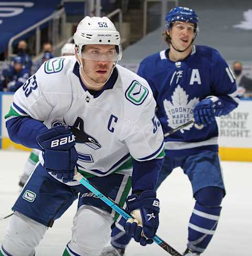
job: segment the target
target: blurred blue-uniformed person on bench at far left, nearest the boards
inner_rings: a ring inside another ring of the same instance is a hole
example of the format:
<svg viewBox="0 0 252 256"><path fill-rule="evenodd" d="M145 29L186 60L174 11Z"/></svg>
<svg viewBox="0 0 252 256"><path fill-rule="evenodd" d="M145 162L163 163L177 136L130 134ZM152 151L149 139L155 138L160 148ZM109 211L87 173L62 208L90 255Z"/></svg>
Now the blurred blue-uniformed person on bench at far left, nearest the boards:
<svg viewBox="0 0 252 256"><path fill-rule="evenodd" d="M10 65L3 70L2 87L7 87L7 91L15 92L29 78L30 72L25 66L24 59L20 56L13 58L13 66Z"/></svg>

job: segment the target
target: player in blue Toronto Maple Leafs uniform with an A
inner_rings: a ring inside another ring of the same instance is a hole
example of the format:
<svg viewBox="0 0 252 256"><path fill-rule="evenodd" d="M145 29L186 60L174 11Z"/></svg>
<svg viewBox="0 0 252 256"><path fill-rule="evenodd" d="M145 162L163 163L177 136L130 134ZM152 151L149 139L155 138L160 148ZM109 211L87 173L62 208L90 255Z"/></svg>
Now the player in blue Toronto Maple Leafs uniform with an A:
<svg viewBox="0 0 252 256"><path fill-rule="evenodd" d="M196 202L184 255L196 256L214 235L225 195L215 117L234 110L239 100L235 78L218 51L193 44L199 31L195 11L175 7L165 23L163 35L169 48L146 57L138 74L152 88L164 133L195 119L164 138L166 155L157 188L178 166L188 176ZM112 230L112 247L104 249L102 256L124 255L130 237L123 234L122 229Z"/></svg>

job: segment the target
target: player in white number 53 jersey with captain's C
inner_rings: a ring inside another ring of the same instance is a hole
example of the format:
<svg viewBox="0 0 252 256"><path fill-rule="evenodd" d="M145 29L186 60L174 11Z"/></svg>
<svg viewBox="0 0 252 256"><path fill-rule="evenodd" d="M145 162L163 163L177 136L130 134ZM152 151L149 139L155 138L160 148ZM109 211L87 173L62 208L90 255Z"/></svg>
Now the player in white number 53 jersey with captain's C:
<svg viewBox="0 0 252 256"><path fill-rule="evenodd" d="M1 256L33 256L78 194L64 256L100 255L120 217L74 179L75 169L121 206L127 203L137 216L126 224L135 241L152 243L158 229L153 202L159 201L154 189L164 142L150 86L117 64L120 35L108 18L83 18L74 41L76 56L44 63L15 93L5 116L10 139L41 153L13 206ZM146 214L155 218L148 221Z"/></svg>

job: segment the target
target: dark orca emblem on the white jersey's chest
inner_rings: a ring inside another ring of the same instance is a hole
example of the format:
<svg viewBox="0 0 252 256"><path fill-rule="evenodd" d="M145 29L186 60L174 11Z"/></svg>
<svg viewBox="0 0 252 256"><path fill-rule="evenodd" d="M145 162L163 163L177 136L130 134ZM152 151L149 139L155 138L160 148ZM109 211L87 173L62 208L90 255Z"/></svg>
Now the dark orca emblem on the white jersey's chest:
<svg viewBox="0 0 252 256"><path fill-rule="evenodd" d="M99 142L84 131L84 122L80 117L77 117L74 125L70 126L70 130L75 135L76 143L84 143L94 150L101 148Z"/></svg>

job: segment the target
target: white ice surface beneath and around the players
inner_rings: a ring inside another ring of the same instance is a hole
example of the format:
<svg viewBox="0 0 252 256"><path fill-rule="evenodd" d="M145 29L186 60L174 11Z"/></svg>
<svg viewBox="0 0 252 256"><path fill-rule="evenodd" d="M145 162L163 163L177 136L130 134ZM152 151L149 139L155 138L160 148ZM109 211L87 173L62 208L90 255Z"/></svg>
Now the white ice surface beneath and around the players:
<svg viewBox="0 0 252 256"><path fill-rule="evenodd" d="M18 180L29 153L0 150L0 218L11 213L10 208L20 192ZM227 195L217 231L204 256L252 255L252 163L222 162ZM161 201L160 226L157 234L177 251L186 247L187 223L193 209L191 184L181 169L175 169L158 191ZM72 218L77 203L54 223L36 249L36 256L60 256L71 239ZM0 221L2 242L8 219ZM85 228L85 227L83 227ZM87 231L87 235L88 235ZM126 256L170 255L157 244L141 247L131 241ZM15 255L14 255L15 256Z"/></svg>

